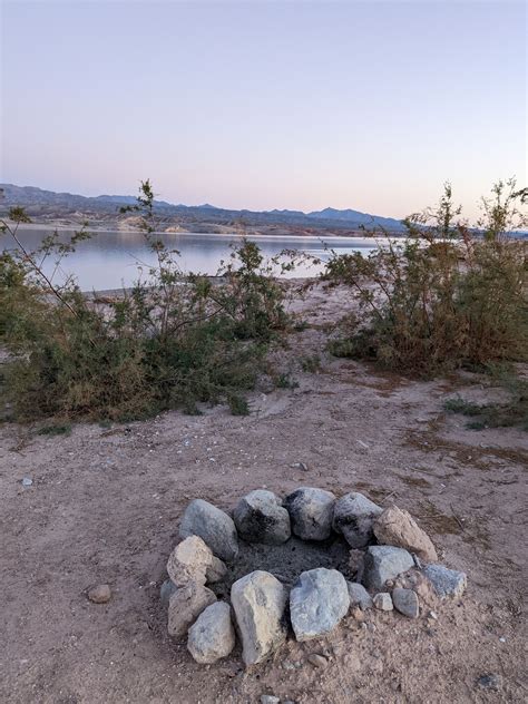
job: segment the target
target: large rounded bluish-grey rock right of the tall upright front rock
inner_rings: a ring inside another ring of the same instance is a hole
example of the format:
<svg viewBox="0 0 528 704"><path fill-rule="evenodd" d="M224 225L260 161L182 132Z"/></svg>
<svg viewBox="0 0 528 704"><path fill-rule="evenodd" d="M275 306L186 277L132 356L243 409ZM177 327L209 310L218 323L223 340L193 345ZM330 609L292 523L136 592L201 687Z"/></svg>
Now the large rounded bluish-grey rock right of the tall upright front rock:
<svg viewBox="0 0 528 704"><path fill-rule="evenodd" d="M290 618L300 642L333 630L350 606L349 588L336 569L310 569L303 573L290 593Z"/></svg>

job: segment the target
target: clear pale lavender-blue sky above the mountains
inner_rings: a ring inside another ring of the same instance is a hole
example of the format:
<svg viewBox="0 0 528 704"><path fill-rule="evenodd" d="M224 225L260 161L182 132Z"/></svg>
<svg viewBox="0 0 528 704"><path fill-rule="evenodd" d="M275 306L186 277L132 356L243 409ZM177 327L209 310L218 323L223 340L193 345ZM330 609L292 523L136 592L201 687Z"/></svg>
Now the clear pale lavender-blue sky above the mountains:
<svg viewBox="0 0 528 704"><path fill-rule="evenodd" d="M0 3L3 183L393 217L526 185L524 1Z"/></svg>

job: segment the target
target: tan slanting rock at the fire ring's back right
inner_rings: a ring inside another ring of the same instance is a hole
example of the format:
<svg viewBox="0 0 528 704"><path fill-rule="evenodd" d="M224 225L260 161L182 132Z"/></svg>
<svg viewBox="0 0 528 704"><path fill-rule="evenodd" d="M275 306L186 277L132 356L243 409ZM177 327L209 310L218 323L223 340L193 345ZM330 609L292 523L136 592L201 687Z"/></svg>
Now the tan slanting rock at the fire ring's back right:
<svg viewBox="0 0 528 704"><path fill-rule="evenodd" d="M427 563L438 560L431 539L410 514L391 506L374 521L374 535L381 545L392 545L415 553Z"/></svg>

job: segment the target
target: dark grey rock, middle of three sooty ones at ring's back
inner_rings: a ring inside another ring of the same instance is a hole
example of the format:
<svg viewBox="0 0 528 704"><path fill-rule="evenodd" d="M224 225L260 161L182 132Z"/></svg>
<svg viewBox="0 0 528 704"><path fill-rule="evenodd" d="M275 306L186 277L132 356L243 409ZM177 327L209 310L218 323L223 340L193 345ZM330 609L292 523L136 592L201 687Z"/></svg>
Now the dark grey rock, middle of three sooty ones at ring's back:
<svg viewBox="0 0 528 704"><path fill-rule="evenodd" d="M332 531L335 496L324 489L301 487L285 500L293 532L303 540L325 540Z"/></svg>

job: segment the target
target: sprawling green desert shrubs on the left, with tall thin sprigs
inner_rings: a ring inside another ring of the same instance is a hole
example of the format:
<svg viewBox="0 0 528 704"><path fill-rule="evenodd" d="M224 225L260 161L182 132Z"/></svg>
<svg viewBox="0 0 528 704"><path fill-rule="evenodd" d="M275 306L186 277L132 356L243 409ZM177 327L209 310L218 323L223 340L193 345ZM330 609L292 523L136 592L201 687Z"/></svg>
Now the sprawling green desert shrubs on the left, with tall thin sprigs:
<svg viewBox="0 0 528 704"><path fill-rule="evenodd" d="M246 241L219 285L184 274L178 253L155 234L153 203L145 182L138 205L126 209L139 213L156 265L104 305L72 278L58 285L42 268L47 257L67 256L86 229L67 244L55 233L29 253L17 236L23 211L11 212L14 225L3 223L18 245L0 260L0 342L11 353L3 375L17 419L126 420L218 401L248 412L243 393L290 322L283 289Z"/></svg>

